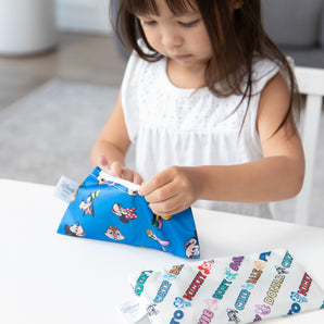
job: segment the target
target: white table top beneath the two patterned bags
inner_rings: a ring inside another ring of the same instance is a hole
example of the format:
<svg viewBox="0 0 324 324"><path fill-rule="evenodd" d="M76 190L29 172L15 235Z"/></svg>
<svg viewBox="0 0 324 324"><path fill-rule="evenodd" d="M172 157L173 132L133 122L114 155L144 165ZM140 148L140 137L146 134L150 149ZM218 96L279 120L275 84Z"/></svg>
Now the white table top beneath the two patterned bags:
<svg viewBox="0 0 324 324"><path fill-rule="evenodd" d="M66 203L53 187L0 179L0 323L123 323L128 274L186 260L153 249L57 234ZM287 248L324 287L324 228L194 210L201 258ZM324 323L313 311L266 323Z"/></svg>

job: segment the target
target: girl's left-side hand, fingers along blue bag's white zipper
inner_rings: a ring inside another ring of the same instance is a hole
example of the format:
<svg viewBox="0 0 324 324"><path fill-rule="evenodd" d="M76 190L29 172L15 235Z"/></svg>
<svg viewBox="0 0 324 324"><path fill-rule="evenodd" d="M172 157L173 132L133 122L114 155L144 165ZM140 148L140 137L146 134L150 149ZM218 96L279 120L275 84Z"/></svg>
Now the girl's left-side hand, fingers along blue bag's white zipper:
<svg viewBox="0 0 324 324"><path fill-rule="evenodd" d="M98 165L105 172L110 173L112 176L123 178L125 180L135 183L137 185L141 185L142 178L141 176L130 169L122 165L121 162L112 162L109 166L108 160L105 157L100 157L98 161Z"/></svg>

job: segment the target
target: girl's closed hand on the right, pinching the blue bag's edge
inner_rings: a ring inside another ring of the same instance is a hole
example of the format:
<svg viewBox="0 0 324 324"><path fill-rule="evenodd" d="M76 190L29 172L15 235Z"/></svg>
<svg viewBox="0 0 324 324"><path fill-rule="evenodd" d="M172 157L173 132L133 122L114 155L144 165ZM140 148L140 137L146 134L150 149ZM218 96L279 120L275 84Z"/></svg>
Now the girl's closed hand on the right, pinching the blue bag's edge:
<svg viewBox="0 0 324 324"><path fill-rule="evenodd" d="M171 166L139 188L157 215L169 216L190 207L200 196L202 185L195 167Z"/></svg>

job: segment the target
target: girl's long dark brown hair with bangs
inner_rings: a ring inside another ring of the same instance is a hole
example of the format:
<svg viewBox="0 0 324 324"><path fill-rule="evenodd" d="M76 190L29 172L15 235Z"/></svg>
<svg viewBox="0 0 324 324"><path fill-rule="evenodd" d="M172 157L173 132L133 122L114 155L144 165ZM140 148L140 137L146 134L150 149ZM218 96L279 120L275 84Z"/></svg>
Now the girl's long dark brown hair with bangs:
<svg viewBox="0 0 324 324"><path fill-rule="evenodd" d="M300 111L300 99L295 74L285 54L270 39L262 26L261 0L165 0L174 14L188 8L200 11L210 37L213 55L205 68L208 88L216 96L241 95L240 103L252 91L252 68L256 57L274 60L288 78L290 87L289 107L276 132L294 117L292 108ZM233 11L234 3L239 8ZM159 15L155 0L121 0L115 32L129 50L136 50L144 60L155 62L163 57L148 43L136 15ZM150 53L144 52L137 39L142 38ZM226 41L225 41L226 40ZM215 87L219 80L222 87ZM240 103L236 109L239 108ZM247 112L246 112L247 113Z"/></svg>

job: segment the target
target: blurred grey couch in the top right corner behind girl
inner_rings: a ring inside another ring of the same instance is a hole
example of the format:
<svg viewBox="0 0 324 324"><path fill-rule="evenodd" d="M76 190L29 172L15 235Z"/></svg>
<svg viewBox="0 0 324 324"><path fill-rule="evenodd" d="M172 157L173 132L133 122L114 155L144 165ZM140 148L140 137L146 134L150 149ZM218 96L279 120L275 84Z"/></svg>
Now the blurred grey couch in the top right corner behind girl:
<svg viewBox="0 0 324 324"><path fill-rule="evenodd" d="M264 28L299 66L324 68L324 0L261 0Z"/></svg>

